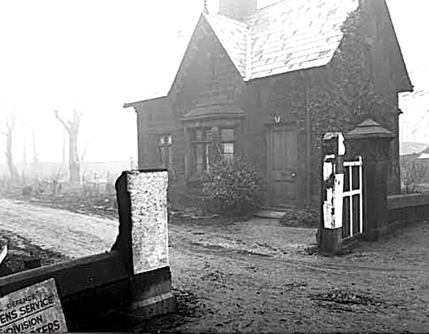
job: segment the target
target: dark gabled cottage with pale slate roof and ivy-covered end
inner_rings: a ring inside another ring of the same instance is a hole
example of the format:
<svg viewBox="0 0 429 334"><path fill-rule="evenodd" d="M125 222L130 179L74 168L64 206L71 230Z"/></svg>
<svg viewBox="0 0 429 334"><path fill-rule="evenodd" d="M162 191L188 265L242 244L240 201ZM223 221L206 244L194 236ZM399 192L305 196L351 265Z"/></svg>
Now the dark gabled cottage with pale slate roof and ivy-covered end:
<svg viewBox="0 0 429 334"><path fill-rule="evenodd" d="M124 105L138 115L139 167L168 167L173 199L214 151L240 154L262 173L266 206L318 205L323 134L370 117L396 135L398 192L398 93L413 87L385 0L219 5L201 13L165 90Z"/></svg>

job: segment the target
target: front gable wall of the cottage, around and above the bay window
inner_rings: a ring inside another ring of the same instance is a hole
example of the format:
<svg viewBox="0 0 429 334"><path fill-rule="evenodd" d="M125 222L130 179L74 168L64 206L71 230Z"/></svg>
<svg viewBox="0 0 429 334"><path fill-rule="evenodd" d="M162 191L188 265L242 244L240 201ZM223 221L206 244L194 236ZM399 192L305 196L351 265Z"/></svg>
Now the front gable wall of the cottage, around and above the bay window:
<svg viewBox="0 0 429 334"><path fill-rule="evenodd" d="M184 198L186 194L187 141L185 124L180 117L198 106L219 103L242 106L243 92L240 74L205 18L201 17L168 96L135 107L139 168L160 167L156 158L157 138L173 136L170 199L174 204L182 205L175 199ZM238 130L238 134L243 131Z"/></svg>

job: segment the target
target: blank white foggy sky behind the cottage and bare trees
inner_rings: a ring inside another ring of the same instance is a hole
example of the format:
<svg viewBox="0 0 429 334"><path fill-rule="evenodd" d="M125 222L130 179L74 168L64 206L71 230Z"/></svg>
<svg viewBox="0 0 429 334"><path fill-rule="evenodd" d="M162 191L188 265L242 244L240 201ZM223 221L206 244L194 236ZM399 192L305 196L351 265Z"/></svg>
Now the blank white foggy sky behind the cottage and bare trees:
<svg viewBox="0 0 429 334"><path fill-rule="evenodd" d="M416 89L428 89L424 43L429 5L424 0L387 1L413 83ZM260 0L258 5L273 2ZM178 31L186 40L203 3L1 1L0 119L7 109L21 116L15 160L22 160L24 140L27 159L32 159L26 121L37 130L39 158L60 161L63 131L53 111L67 118L74 108L83 113L80 150L91 140L86 161L137 158L136 115L132 108L123 109L123 103L139 100L159 85L175 50L183 49L178 48ZM208 3L217 12L218 0ZM0 136L0 147L4 139ZM3 148L0 152L0 162L5 161Z"/></svg>

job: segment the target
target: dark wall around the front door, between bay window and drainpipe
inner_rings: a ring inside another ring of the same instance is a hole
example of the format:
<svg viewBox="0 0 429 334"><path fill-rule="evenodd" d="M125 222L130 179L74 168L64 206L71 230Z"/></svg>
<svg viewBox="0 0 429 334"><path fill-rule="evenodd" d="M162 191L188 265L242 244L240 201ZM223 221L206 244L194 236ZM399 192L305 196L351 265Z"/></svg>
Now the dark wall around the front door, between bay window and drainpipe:
<svg viewBox="0 0 429 334"><path fill-rule="evenodd" d="M268 192L268 129L275 126L273 115L279 115L283 123L295 124L297 127L299 168L295 180L298 206L305 206L306 142L305 123L301 112L305 108L305 92L300 73L253 80L247 84L244 96L245 152L262 174L265 194ZM264 197L267 205L268 196Z"/></svg>

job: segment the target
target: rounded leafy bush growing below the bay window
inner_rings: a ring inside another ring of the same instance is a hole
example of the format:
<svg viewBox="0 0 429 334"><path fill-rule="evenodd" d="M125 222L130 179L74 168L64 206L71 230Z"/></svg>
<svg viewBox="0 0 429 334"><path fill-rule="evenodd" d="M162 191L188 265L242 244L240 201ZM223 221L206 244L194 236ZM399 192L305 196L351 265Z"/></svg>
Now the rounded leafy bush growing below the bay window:
<svg viewBox="0 0 429 334"><path fill-rule="evenodd" d="M222 160L211 165L202 190L211 198L208 210L223 216L247 216L261 204L261 176L244 158Z"/></svg>

